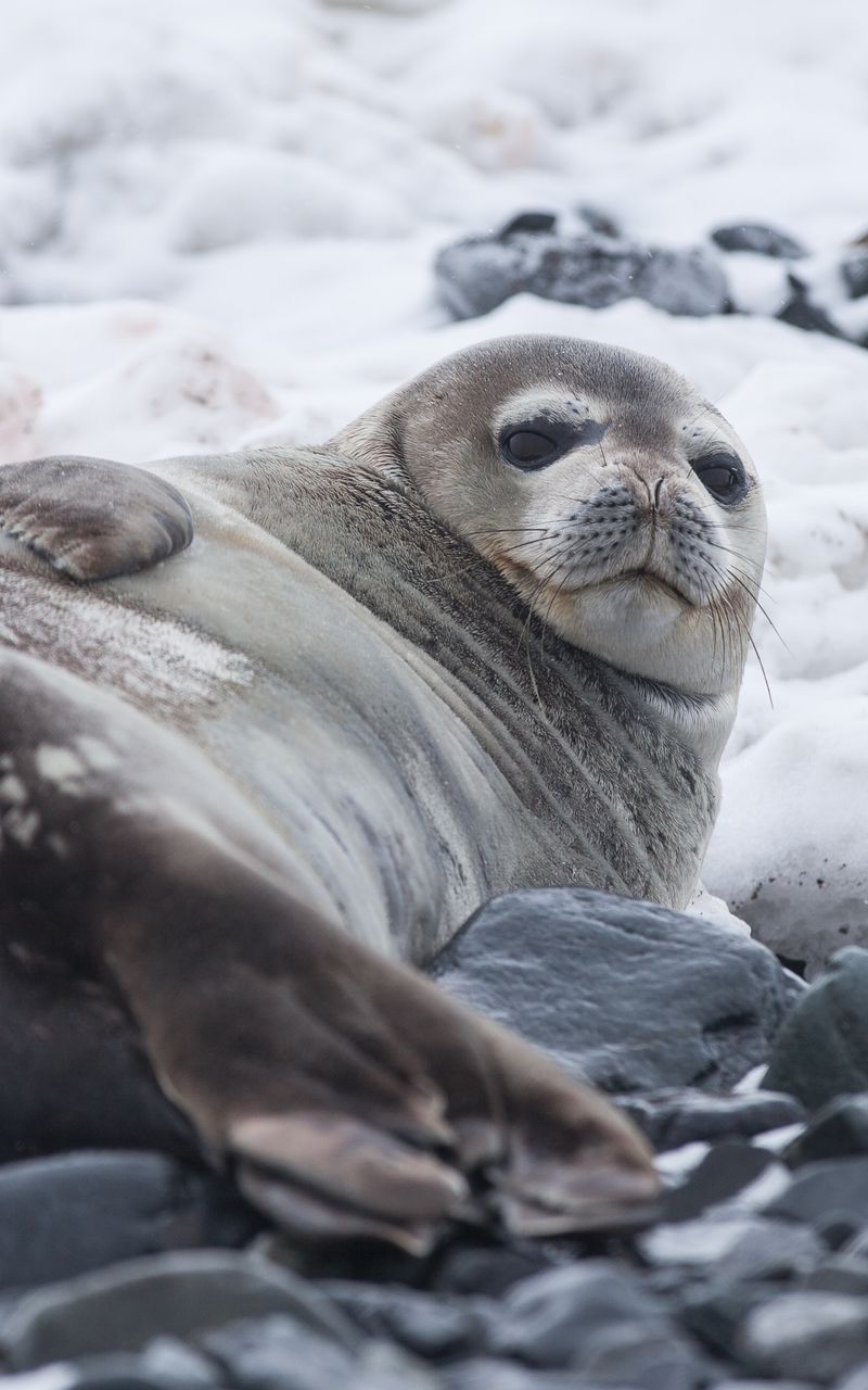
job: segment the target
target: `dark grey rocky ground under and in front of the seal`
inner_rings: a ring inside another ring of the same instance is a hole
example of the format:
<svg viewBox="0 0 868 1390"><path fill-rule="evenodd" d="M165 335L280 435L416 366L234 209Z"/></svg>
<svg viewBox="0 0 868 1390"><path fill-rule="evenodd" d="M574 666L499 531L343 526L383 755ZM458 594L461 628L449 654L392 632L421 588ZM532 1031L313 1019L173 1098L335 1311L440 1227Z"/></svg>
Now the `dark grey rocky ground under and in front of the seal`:
<svg viewBox="0 0 868 1390"><path fill-rule="evenodd" d="M632 1115L657 1225L303 1255L162 1155L11 1163L0 1386L868 1387L868 951L808 988L722 927L549 890L482 909L433 973Z"/></svg>

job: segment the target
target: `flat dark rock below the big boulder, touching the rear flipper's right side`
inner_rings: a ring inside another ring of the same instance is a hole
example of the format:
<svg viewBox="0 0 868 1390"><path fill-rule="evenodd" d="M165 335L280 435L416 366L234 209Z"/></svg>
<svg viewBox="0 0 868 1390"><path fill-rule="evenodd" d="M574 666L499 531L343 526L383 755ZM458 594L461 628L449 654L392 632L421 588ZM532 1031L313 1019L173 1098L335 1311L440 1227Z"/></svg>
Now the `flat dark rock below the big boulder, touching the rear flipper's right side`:
<svg viewBox="0 0 868 1390"><path fill-rule="evenodd" d="M619 1104L658 1152L696 1141L749 1138L804 1119L794 1097L774 1091L750 1095L658 1091L625 1097Z"/></svg>

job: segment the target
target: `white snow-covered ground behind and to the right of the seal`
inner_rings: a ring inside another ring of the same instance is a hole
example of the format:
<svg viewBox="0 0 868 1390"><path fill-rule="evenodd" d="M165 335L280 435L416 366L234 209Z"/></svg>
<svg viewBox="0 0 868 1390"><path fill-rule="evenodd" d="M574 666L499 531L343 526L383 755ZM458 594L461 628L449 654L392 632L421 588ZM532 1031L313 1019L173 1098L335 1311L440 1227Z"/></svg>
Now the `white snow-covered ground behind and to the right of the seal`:
<svg viewBox="0 0 868 1390"><path fill-rule="evenodd" d="M314 442L504 332L671 361L758 461L781 634L758 620L774 708L751 657L708 887L790 956L868 944L868 352L637 302L456 325L431 277L465 231L590 203L665 245L769 220L833 286L868 229L867 54L864 0L7 7L0 461Z"/></svg>

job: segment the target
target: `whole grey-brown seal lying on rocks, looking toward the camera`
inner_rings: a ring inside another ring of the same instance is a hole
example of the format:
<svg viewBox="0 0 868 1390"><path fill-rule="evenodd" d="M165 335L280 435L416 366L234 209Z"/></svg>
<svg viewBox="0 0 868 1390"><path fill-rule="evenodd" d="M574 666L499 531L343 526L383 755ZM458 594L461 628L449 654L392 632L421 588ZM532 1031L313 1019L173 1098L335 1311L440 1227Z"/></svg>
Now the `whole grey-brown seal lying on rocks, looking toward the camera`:
<svg viewBox="0 0 868 1390"><path fill-rule="evenodd" d="M6 467L0 537L0 991L71 1016L22 1144L104 1137L96 1054L117 1141L296 1236L647 1215L626 1122L410 963L515 887L689 901L764 548L719 413L496 339L322 448Z"/></svg>

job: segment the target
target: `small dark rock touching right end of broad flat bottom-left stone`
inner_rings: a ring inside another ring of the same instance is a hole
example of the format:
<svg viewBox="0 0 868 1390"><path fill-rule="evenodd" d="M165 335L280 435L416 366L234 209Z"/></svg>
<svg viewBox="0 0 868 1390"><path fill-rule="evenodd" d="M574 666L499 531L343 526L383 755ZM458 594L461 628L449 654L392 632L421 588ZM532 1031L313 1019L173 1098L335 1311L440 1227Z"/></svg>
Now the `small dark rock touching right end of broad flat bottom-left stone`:
<svg viewBox="0 0 868 1390"><path fill-rule="evenodd" d="M493 1298L450 1300L414 1289L337 1280L321 1287L368 1336L392 1339L431 1361L485 1352L497 1319Z"/></svg>

